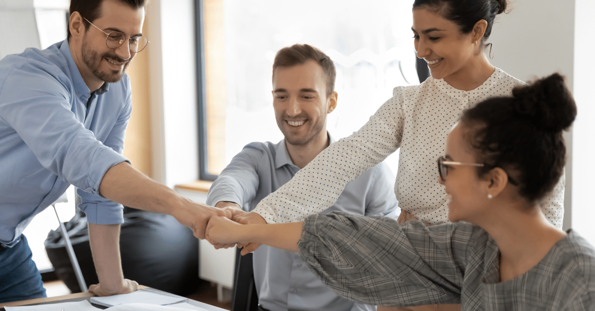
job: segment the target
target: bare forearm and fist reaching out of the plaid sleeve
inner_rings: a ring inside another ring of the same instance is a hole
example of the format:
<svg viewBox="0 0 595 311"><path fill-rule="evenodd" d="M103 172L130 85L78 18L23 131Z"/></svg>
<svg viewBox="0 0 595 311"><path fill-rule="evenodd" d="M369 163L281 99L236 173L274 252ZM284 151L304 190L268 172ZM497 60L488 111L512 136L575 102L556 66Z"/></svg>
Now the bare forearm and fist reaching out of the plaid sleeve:
<svg viewBox="0 0 595 311"><path fill-rule="evenodd" d="M299 252L297 242L303 222L286 224L240 225L224 217L211 217L206 225L206 239L221 244L266 244L277 249Z"/></svg>

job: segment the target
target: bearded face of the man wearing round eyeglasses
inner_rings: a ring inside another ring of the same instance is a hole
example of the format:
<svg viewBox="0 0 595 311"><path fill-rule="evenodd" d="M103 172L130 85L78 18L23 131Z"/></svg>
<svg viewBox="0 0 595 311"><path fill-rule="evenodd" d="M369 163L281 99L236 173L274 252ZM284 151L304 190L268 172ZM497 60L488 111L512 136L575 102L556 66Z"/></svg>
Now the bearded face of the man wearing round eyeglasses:
<svg viewBox="0 0 595 311"><path fill-rule="evenodd" d="M73 18L81 20L82 24L80 14L73 15L71 20ZM108 48L105 44L105 33L117 31L126 34L127 37L140 36L144 19L145 9L142 7L134 9L117 0L104 0L101 4L101 15L91 21L97 28L91 25L89 29L84 30L83 27L77 32L71 26L73 58L89 89L98 89L104 82L119 81L136 55L130 52L128 40L117 48Z"/></svg>

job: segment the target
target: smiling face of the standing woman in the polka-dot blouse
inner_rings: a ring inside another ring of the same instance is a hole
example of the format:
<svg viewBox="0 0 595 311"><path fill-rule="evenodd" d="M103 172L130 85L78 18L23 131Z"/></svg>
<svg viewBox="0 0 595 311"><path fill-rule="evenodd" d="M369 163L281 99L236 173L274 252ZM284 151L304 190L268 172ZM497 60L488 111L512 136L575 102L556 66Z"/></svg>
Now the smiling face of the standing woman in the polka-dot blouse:
<svg viewBox="0 0 595 311"><path fill-rule="evenodd" d="M474 70L472 59L477 56L477 46L473 32L461 33L453 21L426 7L413 10L411 29L417 56L427 62L433 78L443 78L448 83Z"/></svg>

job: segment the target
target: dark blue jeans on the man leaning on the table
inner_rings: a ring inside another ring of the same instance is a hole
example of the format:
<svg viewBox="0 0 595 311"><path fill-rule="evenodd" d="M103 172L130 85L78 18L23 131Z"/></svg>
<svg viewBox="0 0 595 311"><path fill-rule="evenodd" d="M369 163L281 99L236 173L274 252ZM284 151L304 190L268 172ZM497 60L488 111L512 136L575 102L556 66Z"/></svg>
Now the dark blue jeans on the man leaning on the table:
<svg viewBox="0 0 595 311"><path fill-rule="evenodd" d="M22 234L15 246L0 244L0 302L46 297L32 255L27 238Z"/></svg>

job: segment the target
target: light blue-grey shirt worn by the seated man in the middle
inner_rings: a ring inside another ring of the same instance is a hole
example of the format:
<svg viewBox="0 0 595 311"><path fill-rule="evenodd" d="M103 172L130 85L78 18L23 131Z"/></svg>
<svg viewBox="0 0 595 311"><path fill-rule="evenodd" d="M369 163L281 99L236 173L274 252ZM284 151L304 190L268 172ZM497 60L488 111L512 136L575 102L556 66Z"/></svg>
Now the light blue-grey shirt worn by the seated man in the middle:
<svg viewBox="0 0 595 311"><path fill-rule="evenodd" d="M330 136L329 136L330 137ZM330 137L331 143L334 142ZM231 160L212 184L208 205L235 202L252 211L268 194L287 183L299 168L293 164L285 141L250 143ZM358 215L390 216L396 219L394 175L381 163L351 181L337 202L323 211ZM337 296L309 270L299 253L261 246L253 255L258 301L271 311L280 310L375 310Z"/></svg>

